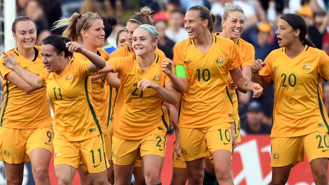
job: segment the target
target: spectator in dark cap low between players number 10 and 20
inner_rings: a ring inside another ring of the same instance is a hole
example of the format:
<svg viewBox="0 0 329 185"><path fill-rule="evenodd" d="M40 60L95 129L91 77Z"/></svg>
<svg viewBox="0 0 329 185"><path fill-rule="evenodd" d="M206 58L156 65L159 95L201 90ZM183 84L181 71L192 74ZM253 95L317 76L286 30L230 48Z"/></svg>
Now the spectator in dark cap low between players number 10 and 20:
<svg viewBox="0 0 329 185"><path fill-rule="evenodd" d="M253 101L248 106L246 122L241 124L241 134L270 134L271 127L262 122L264 113L262 105Z"/></svg>

